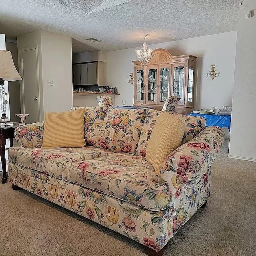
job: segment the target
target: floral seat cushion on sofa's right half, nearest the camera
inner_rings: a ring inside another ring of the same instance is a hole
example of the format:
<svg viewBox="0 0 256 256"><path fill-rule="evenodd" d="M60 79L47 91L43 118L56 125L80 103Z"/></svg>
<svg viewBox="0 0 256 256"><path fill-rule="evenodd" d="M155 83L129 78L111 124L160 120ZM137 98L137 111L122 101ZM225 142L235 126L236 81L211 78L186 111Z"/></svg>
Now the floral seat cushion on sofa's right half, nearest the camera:
<svg viewBox="0 0 256 256"><path fill-rule="evenodd" d="M63 180L148 210L163 210L171 200L166 186L157 183L154 167L142 156L115 153L68 166L62 170Z"/></svg>

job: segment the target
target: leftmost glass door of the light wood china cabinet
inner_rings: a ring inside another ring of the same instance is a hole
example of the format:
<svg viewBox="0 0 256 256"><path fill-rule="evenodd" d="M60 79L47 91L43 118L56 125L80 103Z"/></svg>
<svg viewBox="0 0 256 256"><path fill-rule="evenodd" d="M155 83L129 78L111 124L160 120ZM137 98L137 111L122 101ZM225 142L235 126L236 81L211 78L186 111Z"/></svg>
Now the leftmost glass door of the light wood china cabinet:
<svg viewBox="0 0 256 256"><path fill-rule="evenodd" d="M145 77L144 77L144 67L136 67L134 71L134 103L145 104Z"/></svg>

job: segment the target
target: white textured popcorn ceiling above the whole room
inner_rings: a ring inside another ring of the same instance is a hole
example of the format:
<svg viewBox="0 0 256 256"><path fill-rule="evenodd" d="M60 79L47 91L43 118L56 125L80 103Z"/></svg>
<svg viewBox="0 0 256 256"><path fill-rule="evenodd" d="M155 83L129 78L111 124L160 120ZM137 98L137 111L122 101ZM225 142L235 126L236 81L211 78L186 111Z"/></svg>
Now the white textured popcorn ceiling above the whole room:
<svg viewBox="0 0 256 256"><path fill-rule="evenodd" d="M237 29L238 0L0 0L6 38L46 30L74 52L112 51ZM90 42L96 38L102 42Z"/></svg>

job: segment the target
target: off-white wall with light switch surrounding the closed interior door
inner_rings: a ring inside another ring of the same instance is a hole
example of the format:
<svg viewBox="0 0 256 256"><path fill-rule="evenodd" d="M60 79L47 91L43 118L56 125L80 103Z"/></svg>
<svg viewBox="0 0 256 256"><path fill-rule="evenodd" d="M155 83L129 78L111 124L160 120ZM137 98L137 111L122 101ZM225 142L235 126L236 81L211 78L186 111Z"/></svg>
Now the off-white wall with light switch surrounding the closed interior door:
<svg viewBox="0 0 256 256"><path fill-rule="evenodd" d="M70 110L73 106L71 37L40 30L18 36L17 41L20 69L20 49L38 47L40 120L44 120L44 112ZM48 80L53 80L53 86L48 86Z"/></svg>

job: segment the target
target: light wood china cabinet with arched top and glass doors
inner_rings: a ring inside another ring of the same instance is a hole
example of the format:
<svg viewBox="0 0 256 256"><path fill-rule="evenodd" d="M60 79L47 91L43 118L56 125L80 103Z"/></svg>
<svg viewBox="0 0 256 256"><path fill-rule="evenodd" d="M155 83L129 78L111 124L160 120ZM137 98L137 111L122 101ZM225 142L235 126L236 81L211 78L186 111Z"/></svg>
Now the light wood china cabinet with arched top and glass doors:
<svg viewBox="0 0 256 256"><path fill-rule="evenodd" d="M138 60L133 63L135 106L162 110L165 99L174 95L180 97L176 112L193 111L196 56L172 56L165 49L156 49L146 68Z"/></svg>

